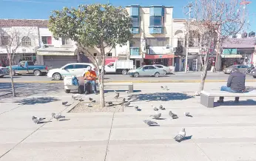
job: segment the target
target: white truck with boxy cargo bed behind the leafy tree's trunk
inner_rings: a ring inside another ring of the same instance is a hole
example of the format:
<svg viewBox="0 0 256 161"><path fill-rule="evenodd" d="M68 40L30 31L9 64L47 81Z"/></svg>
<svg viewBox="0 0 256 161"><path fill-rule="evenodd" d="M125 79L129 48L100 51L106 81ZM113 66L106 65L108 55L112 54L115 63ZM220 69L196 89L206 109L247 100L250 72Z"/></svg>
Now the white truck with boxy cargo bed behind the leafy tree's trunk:
<svg viewBox="0 0 256 161"><path fill-rule="evenodd" d="M101 66L99 66L101 69ZM134 69L132 60L118 60L105 65L105 73L122 73L127 75L130 69Z"/></svg>

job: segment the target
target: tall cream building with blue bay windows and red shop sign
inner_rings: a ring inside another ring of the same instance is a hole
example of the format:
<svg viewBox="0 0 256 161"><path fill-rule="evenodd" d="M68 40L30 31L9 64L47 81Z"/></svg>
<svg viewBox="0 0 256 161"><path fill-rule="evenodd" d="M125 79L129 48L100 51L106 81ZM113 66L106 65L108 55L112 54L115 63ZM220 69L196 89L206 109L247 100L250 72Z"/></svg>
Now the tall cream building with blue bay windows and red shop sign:
<svg viewBox="0 0 256 161"><path fill-rule="evenodd" d="M172 9L168 6L127 6L132 18L132 41L116 47L116 55L129 55L135 66L172 66Z"/></svg>

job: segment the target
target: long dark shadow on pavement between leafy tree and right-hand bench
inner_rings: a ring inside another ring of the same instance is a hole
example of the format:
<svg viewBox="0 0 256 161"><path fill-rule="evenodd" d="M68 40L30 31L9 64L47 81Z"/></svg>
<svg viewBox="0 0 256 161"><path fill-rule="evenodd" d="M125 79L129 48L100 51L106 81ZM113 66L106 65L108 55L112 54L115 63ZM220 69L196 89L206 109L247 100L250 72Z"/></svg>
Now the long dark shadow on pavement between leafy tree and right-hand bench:
<svg viewBox="0 0 256 161"><path fill-rule="evenodd" d="M132 97L131 101L136 100L161 100L161 101L169 101L169 100L187 100L192 98L191 95L186 95L178 92L170 92L170 93L151 93L151 94L138 94L138 95L129 95L128 97Z"/></svg>

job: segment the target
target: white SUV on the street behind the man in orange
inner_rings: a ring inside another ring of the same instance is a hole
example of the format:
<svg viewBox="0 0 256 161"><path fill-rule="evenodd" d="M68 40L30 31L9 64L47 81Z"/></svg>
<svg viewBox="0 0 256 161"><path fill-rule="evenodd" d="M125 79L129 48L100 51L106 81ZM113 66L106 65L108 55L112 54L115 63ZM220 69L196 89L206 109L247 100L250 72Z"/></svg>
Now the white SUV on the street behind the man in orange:
<svg viewBox="0 0 256 161"><path fill-rule="evenodd" d="M66 76L84 76L87 72L87 67L91 66L92 70L96 71L96 68L93 64L87 63L73 63L66 64L58 69L50 69L47 73L47 78L53 78L54 80L61 80Z"/></svg>

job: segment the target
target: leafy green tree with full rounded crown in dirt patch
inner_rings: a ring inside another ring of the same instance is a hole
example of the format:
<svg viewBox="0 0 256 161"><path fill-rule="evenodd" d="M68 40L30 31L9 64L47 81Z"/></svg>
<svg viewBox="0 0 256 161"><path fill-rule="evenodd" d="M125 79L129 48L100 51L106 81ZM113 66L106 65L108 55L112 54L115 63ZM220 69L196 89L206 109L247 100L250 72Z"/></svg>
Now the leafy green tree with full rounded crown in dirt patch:
<svg viewBox="0 0 256 161"><path fill-rule="evenodd" d="M97 67L101 107L104 107L105 49L110 47L111 51L117 44L126 44L132 38L132 21L127 10L110 4L90 4L80 5L77 9L64 7L52 13L49 29L55 38L71 38L77 43L78 50ZM90 53L90 47L100 49L101 69Z"/></svg>

